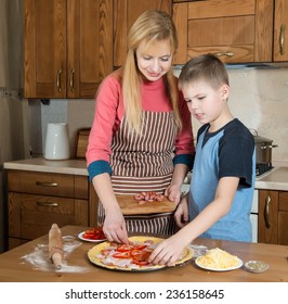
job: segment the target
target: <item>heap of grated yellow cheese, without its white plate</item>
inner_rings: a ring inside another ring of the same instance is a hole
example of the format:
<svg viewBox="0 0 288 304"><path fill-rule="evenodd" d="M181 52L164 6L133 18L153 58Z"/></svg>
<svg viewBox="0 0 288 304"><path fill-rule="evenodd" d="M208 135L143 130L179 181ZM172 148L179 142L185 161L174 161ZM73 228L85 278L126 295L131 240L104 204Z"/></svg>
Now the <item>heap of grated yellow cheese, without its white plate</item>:
<svg viewBox="0 0 288 304"><path fill-rule="evenodd" d="M209 250L207 254L199 256L197 262L207 268L227 269L237 266L239 259L237 256L215 248Z"/></svg>

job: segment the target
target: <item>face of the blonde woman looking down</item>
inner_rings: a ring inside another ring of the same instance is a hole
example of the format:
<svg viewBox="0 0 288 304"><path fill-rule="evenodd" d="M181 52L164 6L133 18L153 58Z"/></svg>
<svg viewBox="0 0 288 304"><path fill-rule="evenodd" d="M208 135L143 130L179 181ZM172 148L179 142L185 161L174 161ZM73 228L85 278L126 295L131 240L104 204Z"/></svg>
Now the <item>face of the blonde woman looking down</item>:
<svg viewBox="0 0 288 304"><path fill-rule="evenodd" d="M136 49L136 64L140 72L149 81L160 79L172 65L172 53L169 40L146 45L142 41Z"/></svg>

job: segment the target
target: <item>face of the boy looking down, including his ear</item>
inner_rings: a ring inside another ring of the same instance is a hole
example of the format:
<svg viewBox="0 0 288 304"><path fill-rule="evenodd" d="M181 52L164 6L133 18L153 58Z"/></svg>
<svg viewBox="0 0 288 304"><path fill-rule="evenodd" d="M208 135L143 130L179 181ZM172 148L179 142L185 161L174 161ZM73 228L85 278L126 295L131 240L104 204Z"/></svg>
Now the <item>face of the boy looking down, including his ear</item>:
<svg viewBox="0 0 288 304"><path fill-rule="evenodd" d="M206 81L199 80L183 86L182 92L189 112L201 124L211 124L226 113L230 92L227 85L215 90Z"/></svg>

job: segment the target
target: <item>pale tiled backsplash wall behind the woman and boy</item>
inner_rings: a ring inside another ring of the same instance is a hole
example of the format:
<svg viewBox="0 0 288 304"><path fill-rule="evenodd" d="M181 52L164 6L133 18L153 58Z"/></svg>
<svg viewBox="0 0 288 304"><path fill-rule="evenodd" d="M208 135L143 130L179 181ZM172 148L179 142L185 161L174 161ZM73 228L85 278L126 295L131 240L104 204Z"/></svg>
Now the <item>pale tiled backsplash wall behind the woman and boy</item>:
<svg viewBox="0 0 288 304"><path fill-rule="evenodd" d="M278 144L272 153L274 163L288 163L288 69L241 68L228 69L231 81L230 107L235 117L260 136ZM94 100L51 100L41 104L42 147L44 149L48 123L68 123L74 155L75 140L79 128L92 125ZM199 128L193 118L193 130Z"/></svg>

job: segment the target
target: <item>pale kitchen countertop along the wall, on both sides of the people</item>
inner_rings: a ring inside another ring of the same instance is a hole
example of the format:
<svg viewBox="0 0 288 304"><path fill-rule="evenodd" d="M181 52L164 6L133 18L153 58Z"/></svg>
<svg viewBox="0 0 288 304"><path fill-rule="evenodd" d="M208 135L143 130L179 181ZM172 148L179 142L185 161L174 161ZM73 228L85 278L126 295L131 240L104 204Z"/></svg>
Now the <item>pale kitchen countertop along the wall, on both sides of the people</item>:
<svg viewBox="0 0 288 304"><path fill-rule="evenodd" d="M43 157L5 162L5 169L88 176L86 160L48 161ZM256 189L288 191L288 167L275 167L256 180Z"/></svg>

